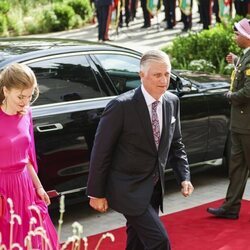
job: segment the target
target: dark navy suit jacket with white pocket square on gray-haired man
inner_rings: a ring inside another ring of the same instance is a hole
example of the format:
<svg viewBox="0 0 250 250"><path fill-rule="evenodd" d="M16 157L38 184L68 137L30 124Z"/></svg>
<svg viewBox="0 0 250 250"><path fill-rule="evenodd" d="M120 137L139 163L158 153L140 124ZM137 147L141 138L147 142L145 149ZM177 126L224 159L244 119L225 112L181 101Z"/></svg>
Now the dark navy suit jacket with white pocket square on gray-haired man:
<svg viewBox="0 0 250 250"><path fill-rule="evenodd" d="M179 181L190 180L180 131L179 99L169 92L163 96L163 129L157 150L139 87L112 100L103 113L91 154L87 194L106 197L109 206L120 213L140 215L150 203L156 167L164 194L167 162Z"/></svg>

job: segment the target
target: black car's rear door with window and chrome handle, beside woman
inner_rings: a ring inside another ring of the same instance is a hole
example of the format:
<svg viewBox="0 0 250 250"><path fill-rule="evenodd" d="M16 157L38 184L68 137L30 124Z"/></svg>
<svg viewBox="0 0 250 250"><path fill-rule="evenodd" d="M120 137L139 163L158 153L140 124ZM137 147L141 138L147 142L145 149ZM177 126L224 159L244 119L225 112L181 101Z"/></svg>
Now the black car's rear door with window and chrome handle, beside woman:
<svg viewBox="0 0 250 250"><path fill-rule="evenodd" d="M110 90L84 53L26 63L40 88L33 119L41 181L47 190L79 191L86 187L95 130Z"/></svg>

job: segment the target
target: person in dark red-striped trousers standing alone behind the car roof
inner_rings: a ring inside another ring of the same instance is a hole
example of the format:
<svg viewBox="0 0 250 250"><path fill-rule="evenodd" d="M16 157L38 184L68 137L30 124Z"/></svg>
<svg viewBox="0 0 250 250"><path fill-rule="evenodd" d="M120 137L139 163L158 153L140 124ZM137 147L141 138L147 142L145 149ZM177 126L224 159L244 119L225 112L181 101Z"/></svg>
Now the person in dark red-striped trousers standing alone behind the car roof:
<svg viewBox="0 0 250 250"><path fill-rule="evenodd" d="M108 41L109 16L113 0L94 0L98 20L98 40Z"/></svg>

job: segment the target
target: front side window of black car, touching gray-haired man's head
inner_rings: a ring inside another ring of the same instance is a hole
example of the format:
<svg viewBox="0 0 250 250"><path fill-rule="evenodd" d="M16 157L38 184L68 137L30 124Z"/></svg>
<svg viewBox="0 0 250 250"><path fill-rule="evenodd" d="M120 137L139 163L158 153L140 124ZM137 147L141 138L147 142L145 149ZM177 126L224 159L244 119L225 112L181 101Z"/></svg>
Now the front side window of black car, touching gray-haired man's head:
<svg viewBox="0 0 250 250"><path fill-rule="evenodd" d="M137 88L141 84L139 58L118 54L97 54L95 56L119 94Z"/></svg>

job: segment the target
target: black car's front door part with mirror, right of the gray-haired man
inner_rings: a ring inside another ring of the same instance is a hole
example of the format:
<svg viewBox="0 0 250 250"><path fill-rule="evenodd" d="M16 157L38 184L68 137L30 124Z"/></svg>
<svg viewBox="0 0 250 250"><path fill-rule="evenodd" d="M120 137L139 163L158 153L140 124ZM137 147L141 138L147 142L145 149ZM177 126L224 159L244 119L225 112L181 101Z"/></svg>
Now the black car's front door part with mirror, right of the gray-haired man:
<svg viewBox="0 0 250 250"><path fill-rule="evenodd" d="M183 89L177 88L177 81L181 81ZM186 91L188 86L188 91ZM205 160L209 133L208 102L204 93L188 79L171 76L169 91L180 98L180 118L182 139L191 165Z"/></svg>

